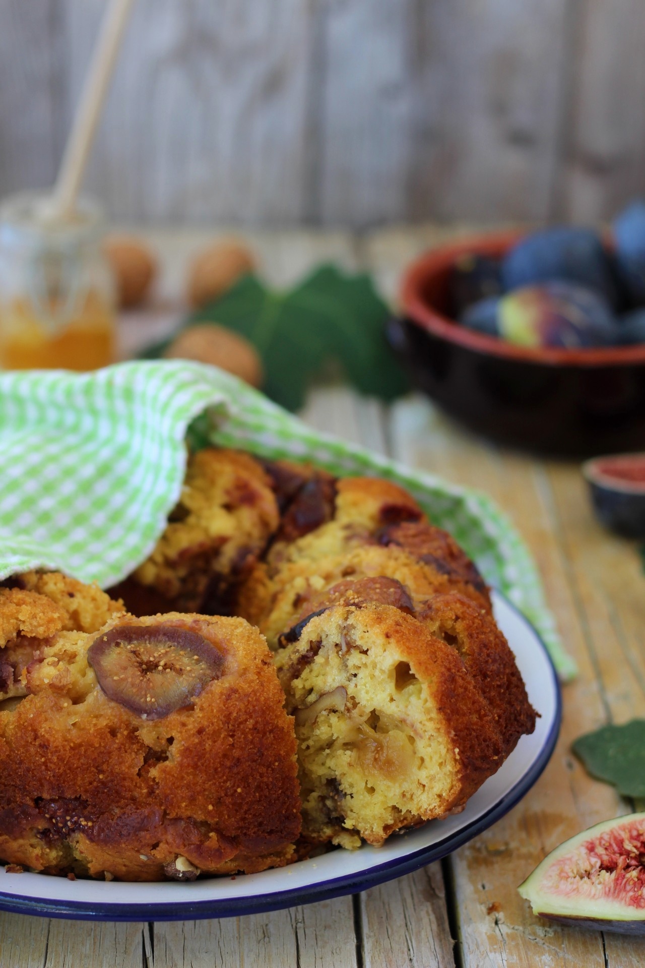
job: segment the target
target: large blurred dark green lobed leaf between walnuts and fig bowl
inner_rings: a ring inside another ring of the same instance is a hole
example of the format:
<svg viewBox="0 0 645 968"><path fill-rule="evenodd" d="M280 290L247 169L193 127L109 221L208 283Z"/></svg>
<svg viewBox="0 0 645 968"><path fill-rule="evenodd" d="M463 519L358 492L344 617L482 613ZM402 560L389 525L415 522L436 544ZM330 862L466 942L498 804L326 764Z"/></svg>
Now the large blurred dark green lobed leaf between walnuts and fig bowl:
<svg viewBox="0 0 645 968"><path fill-rule="evenodd" d="M385 338L388 315L369 276L348 276L324 265L285 292L245 276L193 313L186 325L214 322L245 336L262 359L264 392L294 410L303 406L309 382L330 361L340 364L361 393L390 401L407 391L407 379ZM159 356L168 342L142 355Z"/></svg>

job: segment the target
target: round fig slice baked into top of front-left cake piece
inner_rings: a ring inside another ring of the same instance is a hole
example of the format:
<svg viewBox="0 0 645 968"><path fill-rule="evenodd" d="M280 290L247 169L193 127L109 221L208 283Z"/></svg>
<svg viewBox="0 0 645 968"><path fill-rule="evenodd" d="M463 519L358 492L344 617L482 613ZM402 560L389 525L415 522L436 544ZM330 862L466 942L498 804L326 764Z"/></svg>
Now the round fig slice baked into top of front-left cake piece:
<svg viewBox="0 0 645 968"><path fill-rule="evenodd" d="M145 719L191 706L219 679L224 657L197 632L177 625L117 625L87 652L108 699Z"/></svg>

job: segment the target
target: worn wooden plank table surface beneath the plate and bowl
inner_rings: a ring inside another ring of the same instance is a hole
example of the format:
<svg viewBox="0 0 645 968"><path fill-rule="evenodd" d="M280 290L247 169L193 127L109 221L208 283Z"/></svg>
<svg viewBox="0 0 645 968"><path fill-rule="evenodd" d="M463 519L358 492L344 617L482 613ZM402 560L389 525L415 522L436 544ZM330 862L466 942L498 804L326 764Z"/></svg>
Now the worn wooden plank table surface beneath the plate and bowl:
<svg viewBox="0 0 645 968"><path fill-rule="evenodd" d="M367 266L392 295L402 265L448 229L250 234L277 284L334 258ZM203 236L153 236L164 265L160 299L180 290ZM159 335L167 316L123 322L124 352ZM645 713L645 574L635 546L595 522L576 464L518 455L476 439L421 397L393 408L321 388L304 418L456 484L476 486L513 518L538 560L548 602L580 670L564 689L564 722L541 779L503 820L443 862L354 897L222 921L83 923L0 913L1 968L636 968L645 940L561 928L534 918L517 885L573 833L630 804L592 780L571 742L607 721Z"/></svg>

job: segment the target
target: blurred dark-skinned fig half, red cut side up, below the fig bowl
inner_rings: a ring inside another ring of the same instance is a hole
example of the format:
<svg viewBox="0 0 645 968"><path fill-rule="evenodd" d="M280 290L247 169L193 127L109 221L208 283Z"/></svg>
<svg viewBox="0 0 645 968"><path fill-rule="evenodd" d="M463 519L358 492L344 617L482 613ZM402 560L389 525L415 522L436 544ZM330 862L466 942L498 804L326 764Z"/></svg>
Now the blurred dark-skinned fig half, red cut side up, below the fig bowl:
<svg viewBox="0 0 645 968"><path fill-rule="evenodd" d="M605 528L645 538L645 454L597 457L582 465L582 473Z"/></svg>

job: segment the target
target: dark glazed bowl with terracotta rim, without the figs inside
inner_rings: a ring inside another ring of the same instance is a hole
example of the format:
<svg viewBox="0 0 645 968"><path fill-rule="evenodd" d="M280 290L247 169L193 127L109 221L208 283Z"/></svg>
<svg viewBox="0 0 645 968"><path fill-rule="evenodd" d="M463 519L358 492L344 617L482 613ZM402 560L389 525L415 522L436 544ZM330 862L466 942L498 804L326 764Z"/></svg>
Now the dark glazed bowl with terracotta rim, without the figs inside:
<svg viewBox="0 0 645 968"><path fill-rule="evenodd" d="M450 318L448 283L465 253L501 257L521 238L465 239L414 262L400 290L392 346L413 382L487 437L561 456L645 447L645 346L517 347Z"/></svg>

